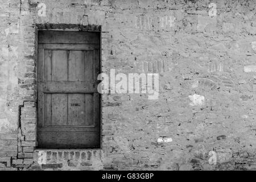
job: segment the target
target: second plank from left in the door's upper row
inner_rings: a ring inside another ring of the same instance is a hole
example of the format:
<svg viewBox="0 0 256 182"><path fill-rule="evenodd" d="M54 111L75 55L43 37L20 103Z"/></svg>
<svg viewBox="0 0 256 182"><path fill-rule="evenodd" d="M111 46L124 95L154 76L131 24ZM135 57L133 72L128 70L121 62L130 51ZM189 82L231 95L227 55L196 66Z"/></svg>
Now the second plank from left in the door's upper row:
<svg viewBox="0 0 256 182"><path fill-rule="evenodd" d="M52 50L52 81L68 81L68 52Z"/></svg>

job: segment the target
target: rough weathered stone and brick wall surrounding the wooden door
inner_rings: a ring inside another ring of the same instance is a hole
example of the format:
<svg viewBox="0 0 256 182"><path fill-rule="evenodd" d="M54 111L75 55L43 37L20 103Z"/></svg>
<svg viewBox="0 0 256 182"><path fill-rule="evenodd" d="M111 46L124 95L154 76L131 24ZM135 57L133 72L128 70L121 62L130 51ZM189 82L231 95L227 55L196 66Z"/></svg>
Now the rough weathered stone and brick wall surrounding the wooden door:
<svg viewBox="0 0 256 182"><path fill-rule="evenodd" d="M255 170L256 1L0 0L0 170ZM40 150L38 30L101 31L101 69L159 73L103 94L101 148Z"/></svg>

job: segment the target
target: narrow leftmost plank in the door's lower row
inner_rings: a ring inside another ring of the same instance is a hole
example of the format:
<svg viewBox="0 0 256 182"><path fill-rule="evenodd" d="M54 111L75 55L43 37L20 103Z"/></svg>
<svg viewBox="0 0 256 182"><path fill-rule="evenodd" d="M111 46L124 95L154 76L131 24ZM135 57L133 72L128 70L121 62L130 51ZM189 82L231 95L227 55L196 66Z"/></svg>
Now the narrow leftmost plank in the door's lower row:
<svg viewBox="0 0 256 182"><path fill-rule="evenodd" d="M43 126L51 126L52 123L52 94L44 94L44 121Z"/></svg>

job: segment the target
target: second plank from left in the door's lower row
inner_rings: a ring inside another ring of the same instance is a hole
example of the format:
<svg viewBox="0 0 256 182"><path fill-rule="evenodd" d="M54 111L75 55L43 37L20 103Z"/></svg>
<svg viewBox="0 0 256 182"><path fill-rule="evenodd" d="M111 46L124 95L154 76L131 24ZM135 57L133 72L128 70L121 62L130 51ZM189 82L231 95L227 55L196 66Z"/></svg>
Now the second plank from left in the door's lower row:
<svg viewBox="0 0 256 182"><path fill-rule="evenodd" d="M67 125L67 94L52 94L52 125Z"/></svg>

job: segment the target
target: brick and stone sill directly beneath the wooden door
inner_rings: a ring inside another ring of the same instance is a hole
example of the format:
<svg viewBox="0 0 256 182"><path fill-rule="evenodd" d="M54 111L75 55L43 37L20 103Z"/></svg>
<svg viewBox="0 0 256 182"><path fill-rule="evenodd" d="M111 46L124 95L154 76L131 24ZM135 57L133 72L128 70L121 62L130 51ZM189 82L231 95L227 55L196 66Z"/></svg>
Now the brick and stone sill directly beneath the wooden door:
<svg viewBox="0 0 256 182"><path fill-rule="evenodd" d="M101 149L36 149L34 166L41 169L101 170L103 169Z"/></svg>

